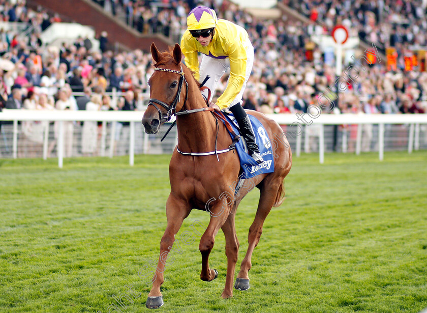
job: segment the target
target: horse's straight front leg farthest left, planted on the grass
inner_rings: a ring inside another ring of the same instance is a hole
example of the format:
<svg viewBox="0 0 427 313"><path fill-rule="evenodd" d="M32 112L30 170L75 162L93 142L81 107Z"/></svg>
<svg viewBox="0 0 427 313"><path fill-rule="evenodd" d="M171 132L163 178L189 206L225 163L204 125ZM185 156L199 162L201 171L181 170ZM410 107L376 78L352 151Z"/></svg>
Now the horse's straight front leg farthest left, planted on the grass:
<svg viewBox="0 0 427 313"><path fill-rule="evenodd" d="M147 302L145 303L148 308L158 308L163 305L163 296L160 292L160 287L164 282L163 272L167 265L168 254L175 241L175 235L178 233L188 213L189 211L184 205L169 196L166 202L166 216L168 222L165 233L160 241L160 256L153 277L153 286L148 294Z"/></svg>

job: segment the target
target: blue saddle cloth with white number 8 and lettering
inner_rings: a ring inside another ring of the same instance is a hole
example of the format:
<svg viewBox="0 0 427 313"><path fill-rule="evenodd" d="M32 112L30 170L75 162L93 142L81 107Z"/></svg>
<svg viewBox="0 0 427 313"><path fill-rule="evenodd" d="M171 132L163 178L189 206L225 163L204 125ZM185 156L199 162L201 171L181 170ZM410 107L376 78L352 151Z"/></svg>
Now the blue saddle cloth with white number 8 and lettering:
<svg viewBox="0 0 427 313"><path fill-rule="evenodd" d="M227 120L230 122L233 130L236 134L239 133L237 126L237 121L234 119L232 113L224 114ZM258 164L253 158L248 154L246 143L241 137L236 144L237 154L240 159L240 167L242 169L241 178L251 178L264 173L272 173L275 170L275 161L273 158L273 151L270 144L270 139L267 132L265 131L264 126L252 115L249 115L249 120L251 121L252 128L255 133L255 141L259 147L259 153L264 159L264 163ZM232 119L230 118L232 117ZM230 133L231 139L233 139L232 134Z"/></svg>

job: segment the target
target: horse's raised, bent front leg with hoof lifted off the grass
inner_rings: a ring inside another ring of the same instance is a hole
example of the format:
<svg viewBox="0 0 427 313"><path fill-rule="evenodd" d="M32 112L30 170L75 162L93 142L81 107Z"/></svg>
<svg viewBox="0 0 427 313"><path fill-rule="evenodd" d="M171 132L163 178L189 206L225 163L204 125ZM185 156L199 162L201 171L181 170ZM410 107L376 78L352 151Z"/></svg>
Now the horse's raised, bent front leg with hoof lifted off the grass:
<svg viewBox="0 0 427 313"><path fill-rule="evenodd" d="M230 213L230 207L224 206L223 203L220 202L209 210L210 221L199 243L199 250L202 254L202 271L200 273L200 279L204 281L211 281L218 277L218 272L209 268L209 254L214 247L215 236Z"/></svg>

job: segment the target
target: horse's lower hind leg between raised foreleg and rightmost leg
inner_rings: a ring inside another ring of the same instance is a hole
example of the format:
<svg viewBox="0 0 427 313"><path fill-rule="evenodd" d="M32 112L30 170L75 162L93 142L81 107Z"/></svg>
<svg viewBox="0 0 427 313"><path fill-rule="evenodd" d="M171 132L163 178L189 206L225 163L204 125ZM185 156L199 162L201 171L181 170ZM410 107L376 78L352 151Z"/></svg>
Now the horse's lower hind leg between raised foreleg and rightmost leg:
<svg viewBox="0 0 427 313"><path fill-rule="evenodd" d="M221 227L225 236L225 255L227 255L227 276L225 279L225 288L221 295L224 299L231 298L233 296L234 271L239 250L239 241L236 236L234 216L235 208Z"/></svg>

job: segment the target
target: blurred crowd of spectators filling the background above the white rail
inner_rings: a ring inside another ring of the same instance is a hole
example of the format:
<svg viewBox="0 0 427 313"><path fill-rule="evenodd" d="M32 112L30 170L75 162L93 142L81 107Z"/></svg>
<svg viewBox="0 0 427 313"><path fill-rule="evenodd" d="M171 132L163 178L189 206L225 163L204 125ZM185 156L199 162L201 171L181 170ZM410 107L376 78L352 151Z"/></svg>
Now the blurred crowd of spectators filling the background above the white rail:
<svg viewBox="0 0 427 313"><path fill-rule="evenodd" d="M179 0L163 2L164 7L154 7L150 5L150 1L141 0L97 2L104 7L109 5L110 9L115 6L125 9L132 7L132 10L128 10L129 20L133 21L134 26L135 21L143 20L143 26L140 25L143 32L146 25L155 27L155 18L160 21L162 29L169 25L170 29L175 29L179 34L186 29L186 17L190 8L198 4L195 2L190 5L189 2ZM421 11L416 6L418 2ZM245 27L253 42L255 62L244 96L243 105L246 108L265 113L294 113L306 112L310 104L316 104L319 94L333 86L334 68L324 62L322 51L318 47L314 48L313 61L307 61L303 51L310 34L325 33L334 23L348 24L349 29L358 32L358 35L364 31L371 36L378 31L378 38L384 39L386 45L392 45L393 42L399 52L403 51L399 50L399 45L425 44L425 15L420 16L420 12L425 12L425 6L421 6L421 1L398 1L393 6L390 1L362 0L304 0L285 3L308 15L312 21L302 23L290 22L285 18L259 19L228 0L204 2L204 5L216 10L219 18ZM370 7L372 4L374 7L376 5L376 9ZM10 1L0 0L0 9L3 20L20 21L34 27L28 38L20 37L13 31L0 30L0 105L40 109L143 108L142 99L148 92L146 82L153 73L149 53L141 50L118 53L106 49L97 51L83 38L73 44L64 43L60 48L42 48L40 32L51 22L60 21L57 15L49 16L46 11L28 9L24 0L17 0L13 5ZM341 16L348 18L341 20ZM406 16L405 20L403 16ZM325 25L316 25L318 20L322 20ZM396 27L387 31L391 32L390 35L383 29L391 21L402 23L396 22ZM403 22L407 23L406 28L402 26ZM138 27L138 22L136 24ZM359 27L354 27L355 25ZM107 34L103 36L106 38ZM395 39L392 41L393 36ZM378 38L369 40L376 41ZM423 101L423 97L427 95L425 72L405 72L400 61L395 71L387 71L385 60L364 66L366 70L360 71L357 80L348 81L348 88L340 93L338 105L333 112L427 111ZM221 94L226 81L225 76L214 96ZM112 90L123 92L125 96L111 98L108 92ZM94 98L94 95L99 97ZM88 106L89 100L92 104ZM90 129L89 126L86 128ZM85 148L92 149L91 147Z"/></svg>

